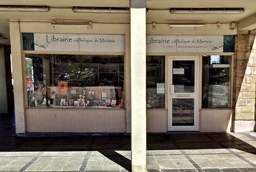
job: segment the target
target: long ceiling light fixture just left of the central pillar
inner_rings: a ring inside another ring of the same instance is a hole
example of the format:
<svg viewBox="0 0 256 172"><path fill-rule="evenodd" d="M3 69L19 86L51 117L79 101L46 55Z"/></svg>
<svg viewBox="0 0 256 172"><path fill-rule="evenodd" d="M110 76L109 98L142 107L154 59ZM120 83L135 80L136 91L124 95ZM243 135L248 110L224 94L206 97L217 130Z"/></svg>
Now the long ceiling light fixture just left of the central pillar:
<svg viewBox="0 0 256 172"><path fill-rule="evenodd" d="M129 8L109 8L109 7L74 7L74 12L78 13L115 13L115 14L129 14Z"/></svg>

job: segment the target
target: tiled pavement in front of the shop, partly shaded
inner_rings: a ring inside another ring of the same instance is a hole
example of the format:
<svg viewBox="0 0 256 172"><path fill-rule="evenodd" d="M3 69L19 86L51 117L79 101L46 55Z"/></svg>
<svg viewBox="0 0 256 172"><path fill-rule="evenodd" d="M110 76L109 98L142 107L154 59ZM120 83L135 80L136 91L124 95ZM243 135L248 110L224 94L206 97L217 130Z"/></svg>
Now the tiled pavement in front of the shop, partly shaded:
<svg viewBox="0 0 256 172"><path fill-rule="evenodd" d="M0 115L0 171L131 171L130 136L15 137ZM256 171L255 133L147 136L147 170Z"/></svg>

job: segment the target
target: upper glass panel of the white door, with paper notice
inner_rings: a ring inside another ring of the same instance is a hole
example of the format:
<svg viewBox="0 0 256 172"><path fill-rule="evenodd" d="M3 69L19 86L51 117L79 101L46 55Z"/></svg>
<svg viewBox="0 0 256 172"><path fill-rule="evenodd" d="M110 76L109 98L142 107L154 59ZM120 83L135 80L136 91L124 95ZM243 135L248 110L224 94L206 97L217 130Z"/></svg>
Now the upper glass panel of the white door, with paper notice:
<svg viewBox="0 0 256 172"><path fill-rule="evenodd" d="M195 92L195 60L173 60L175 93Z"/></svg>

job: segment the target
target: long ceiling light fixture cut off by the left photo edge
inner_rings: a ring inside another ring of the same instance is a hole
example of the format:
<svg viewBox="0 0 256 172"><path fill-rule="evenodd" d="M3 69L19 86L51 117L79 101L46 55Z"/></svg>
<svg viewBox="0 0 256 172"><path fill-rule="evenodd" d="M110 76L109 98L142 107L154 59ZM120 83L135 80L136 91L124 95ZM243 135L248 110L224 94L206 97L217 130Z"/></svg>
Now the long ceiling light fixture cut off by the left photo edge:
<svg viewBox="0 0 256 172"><path fill-rule="evenodd" d="M13 12L49 12L48 6L0 6L0 11Z"/></svg>

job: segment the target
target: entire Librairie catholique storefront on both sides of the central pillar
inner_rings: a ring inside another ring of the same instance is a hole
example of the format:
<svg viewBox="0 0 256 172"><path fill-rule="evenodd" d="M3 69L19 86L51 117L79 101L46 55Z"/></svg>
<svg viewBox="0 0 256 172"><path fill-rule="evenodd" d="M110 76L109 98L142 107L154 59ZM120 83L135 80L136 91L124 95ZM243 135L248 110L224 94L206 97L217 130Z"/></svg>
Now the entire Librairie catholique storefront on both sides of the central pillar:
<svg viewBox="0 0 256 172"><path fill-rule="evenodd" d="M131 132L129 25L19 27L26 132ZM147 132L232 131L235 36L148 33Z"/></svg>

